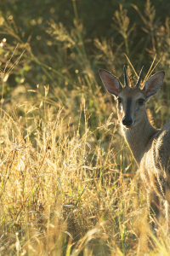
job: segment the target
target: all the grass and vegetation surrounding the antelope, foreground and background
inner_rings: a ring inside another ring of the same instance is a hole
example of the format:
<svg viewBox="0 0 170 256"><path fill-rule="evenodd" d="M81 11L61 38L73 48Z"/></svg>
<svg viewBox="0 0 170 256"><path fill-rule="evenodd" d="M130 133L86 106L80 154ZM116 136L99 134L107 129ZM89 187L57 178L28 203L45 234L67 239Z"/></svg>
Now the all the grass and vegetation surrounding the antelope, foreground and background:
<svg viewBox="0 0 170 256"><path fill-rule="evenodd" d="M126 64L135 83L155 58L152 73L166 77L148 113L157 128L169 119L160 4L0 3L0 255L170 254L164 218L150 232L144 184L99 79L102 67L123 83Z"/></svg>

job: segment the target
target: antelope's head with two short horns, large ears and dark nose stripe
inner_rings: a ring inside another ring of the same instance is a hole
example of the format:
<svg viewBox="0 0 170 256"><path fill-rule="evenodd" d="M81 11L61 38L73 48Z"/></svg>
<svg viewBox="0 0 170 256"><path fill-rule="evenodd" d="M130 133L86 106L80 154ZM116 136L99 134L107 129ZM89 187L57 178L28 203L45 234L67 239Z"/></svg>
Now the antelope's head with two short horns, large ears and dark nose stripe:
<svg viewBox="0 0 170 256"><path fill-rule="evenodd" d="M139 73L139 79L134 87L128 85L126 67L124 66L124 87L119 80L104 69L99 69L100 77L106 90L108 90L116 98L117 115L120 123L131 128L143 120L145 111L145 102L150 96L156 94L161 88L165 72L160 71L147 79L143 89L140 89L140 81L142 78L143 67Z"/></svg>

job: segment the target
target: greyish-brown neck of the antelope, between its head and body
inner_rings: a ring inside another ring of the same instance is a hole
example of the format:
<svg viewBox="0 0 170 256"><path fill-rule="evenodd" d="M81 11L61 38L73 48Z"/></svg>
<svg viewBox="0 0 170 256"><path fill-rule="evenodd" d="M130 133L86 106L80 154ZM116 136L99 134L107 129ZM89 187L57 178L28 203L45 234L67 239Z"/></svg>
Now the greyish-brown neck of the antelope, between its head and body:
<svg viewBox="0 0 170 256"><path fill-rule="evenodd" d="M150 125L146 112L139 125L132 126L129 129L122 125L123 136L125 137L128 147L130 148L138 166L140 165L140 161L142 160L144 153L149 150L158 131L159 130Z"/></svg>

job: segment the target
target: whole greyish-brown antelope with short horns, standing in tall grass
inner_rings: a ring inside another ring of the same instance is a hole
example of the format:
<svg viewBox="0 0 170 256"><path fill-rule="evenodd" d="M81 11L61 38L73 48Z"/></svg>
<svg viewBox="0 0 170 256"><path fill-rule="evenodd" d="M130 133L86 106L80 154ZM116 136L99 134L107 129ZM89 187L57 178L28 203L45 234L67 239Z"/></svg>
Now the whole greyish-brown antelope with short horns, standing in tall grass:
<svg viewBox="0 0 170 256"><path fill-rule="evenodd" d="M168 205L170 204L170 119L158 130L148 119L145 102L161 88L165 72L155 73L140 89L141 70L135 87L129 87L124 67L125 85L111 73L100 69L100 77L117 101L117 115L122 125L122 134L139 166L141 177L147 191L150 215L160 215L160 203L164 202L168 228ZM152 220L152 229L156 225Z"/></svg>

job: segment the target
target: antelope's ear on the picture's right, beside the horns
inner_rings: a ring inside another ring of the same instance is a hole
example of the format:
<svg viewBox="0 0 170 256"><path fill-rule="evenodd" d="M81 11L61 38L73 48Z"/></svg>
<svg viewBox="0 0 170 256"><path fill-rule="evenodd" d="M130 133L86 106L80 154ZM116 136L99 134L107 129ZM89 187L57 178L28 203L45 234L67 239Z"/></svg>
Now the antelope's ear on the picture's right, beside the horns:
<svg viewBox="0 0 170 256"><path fill-rule="evenodd" d="M153 76L151 76L150 79L147 79L143 89L146 94L146 101L150 99L150 96L155 95L156 92L160 90L164 76L165 76L165 71L160 71L155 73Z"/></svg>

